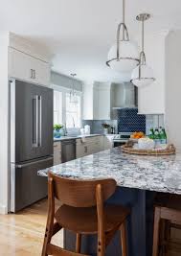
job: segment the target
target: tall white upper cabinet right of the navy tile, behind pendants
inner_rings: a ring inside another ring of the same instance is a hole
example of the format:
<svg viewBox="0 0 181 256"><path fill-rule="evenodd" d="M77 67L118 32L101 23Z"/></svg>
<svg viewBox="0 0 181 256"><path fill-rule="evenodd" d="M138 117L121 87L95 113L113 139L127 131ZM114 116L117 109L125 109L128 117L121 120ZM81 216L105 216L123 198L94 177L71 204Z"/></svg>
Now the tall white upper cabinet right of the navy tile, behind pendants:
<svg viewBox="0 0 181 256"><path fill-rule="evenodd" d="M138 112L141 114L165 113L165 39L167 33L147 35L145 52L147 64L156 79L151 85L138 90Z"/></svg>

